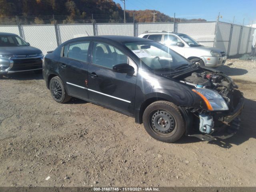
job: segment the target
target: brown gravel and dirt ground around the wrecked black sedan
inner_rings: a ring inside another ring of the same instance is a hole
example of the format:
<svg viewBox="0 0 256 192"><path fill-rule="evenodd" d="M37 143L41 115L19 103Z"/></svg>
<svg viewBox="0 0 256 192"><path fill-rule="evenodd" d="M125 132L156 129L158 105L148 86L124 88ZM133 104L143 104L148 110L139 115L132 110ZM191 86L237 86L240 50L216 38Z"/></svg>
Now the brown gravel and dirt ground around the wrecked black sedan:
<svg viewBox="0 0 256 192"><path fill-rule="evenodd" d="M213 142L158 142L134 118L54 102L41 75L1 79L0 186L256 186L256 62L231 61L221 69L244 92L241 129Z"/></svg>

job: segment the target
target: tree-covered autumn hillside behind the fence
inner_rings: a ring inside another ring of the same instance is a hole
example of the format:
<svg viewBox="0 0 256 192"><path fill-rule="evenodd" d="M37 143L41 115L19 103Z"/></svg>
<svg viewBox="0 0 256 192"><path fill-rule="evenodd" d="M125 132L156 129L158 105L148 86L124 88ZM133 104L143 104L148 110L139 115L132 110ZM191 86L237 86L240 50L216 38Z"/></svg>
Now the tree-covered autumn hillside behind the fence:
<svg viewBox="0 0 256 192"><path fill-rule="evenodd" d="M88 23L92 17L94 22L124 21L122 7L113 0L0 0L0 7L0 22L6 23L16 22L14 16L26 24ZM133 14L135 22L153 22L153 12L155 22L173 22L173 17L157 10L127 10L126 22L133 22Z"/></svg>

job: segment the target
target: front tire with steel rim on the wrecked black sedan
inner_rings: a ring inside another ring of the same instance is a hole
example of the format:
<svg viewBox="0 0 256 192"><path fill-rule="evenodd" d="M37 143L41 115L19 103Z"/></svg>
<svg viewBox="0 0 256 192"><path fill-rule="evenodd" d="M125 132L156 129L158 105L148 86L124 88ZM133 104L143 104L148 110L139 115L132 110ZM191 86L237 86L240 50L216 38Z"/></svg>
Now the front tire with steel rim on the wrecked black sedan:
<svg viewBox="0 0 256 192"><path fill-rule="evenodd" d="M143 114L144 128L154 139L172 143L184 134L185 121L178 107L167 101L150 104Z"/></svg>

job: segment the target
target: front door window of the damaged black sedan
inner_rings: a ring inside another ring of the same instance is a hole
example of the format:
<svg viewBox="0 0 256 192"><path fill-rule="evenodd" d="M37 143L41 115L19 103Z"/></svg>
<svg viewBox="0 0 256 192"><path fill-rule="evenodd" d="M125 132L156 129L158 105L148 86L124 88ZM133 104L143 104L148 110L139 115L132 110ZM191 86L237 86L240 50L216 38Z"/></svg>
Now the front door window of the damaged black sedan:
<svg viewBox="0 0 256 192"><path fill-rule="evenodd" d="M114 46L104 43L94 43L92 63L112 69L116 64L128 63L128 57Z"/></svg>

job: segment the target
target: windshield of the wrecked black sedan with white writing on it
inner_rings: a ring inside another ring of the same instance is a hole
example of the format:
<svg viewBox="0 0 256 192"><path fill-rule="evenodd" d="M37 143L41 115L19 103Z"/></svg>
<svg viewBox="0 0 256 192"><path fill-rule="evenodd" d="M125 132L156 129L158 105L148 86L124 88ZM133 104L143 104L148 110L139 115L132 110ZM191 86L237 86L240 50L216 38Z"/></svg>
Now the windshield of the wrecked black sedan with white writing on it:
<svg viewBox="0 0 256 192"><path fill-rule="evenodd" d="M170 72L191 64L186 58L158 42L126 42L124 44L154 71Z"/></svg>

